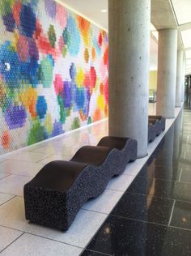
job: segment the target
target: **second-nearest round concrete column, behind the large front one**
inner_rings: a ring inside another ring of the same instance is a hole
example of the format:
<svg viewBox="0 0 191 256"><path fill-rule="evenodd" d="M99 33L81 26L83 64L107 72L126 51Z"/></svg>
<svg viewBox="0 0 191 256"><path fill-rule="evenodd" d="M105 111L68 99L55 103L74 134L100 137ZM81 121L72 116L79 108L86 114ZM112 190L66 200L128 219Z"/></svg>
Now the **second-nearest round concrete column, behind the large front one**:
<svg viewBox="0 0 191 256"><path fill-rule="evenodd" d="M159 30L156 114L175 117L177 30Z"/></svg>

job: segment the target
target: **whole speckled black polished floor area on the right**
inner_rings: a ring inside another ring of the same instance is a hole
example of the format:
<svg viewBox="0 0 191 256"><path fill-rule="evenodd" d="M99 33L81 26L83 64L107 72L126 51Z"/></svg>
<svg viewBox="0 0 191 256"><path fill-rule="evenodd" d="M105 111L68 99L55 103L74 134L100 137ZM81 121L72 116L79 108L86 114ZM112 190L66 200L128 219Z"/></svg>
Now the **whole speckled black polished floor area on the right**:
<svg viewBox="0 0 191 256"><path fill-rule="evenodd" d="M191 255L191 109L188 106L82 255Z"/></svg>

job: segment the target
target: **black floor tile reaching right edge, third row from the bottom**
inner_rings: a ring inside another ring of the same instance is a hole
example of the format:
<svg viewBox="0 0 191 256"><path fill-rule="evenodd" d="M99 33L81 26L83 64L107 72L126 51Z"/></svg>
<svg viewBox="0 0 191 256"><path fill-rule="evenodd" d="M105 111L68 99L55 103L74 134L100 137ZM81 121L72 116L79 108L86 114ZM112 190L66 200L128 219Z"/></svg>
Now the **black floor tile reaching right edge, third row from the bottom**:
<svg viewBox="0 0 191 256"><path fill-rule="evenodd" d="M191 186L189 183L136 177L127 190L132 194L151 194L162 198L179 199L191 202Z"/></svg>

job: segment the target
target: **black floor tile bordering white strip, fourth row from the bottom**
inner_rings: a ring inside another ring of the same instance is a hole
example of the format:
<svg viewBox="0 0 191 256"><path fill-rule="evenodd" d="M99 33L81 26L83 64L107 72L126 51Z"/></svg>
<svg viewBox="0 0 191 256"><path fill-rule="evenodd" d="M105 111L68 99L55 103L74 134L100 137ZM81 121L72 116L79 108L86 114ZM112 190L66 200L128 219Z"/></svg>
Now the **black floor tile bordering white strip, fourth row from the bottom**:
<svg viewBox="0 0 191 256"><path fill-rule="evenodd" d="M152 164L142 168L138 176L160 178L171 181L178 181L180 178L181 169L177 165L163 164L156 165L157 161L153 161Z"/></svg>

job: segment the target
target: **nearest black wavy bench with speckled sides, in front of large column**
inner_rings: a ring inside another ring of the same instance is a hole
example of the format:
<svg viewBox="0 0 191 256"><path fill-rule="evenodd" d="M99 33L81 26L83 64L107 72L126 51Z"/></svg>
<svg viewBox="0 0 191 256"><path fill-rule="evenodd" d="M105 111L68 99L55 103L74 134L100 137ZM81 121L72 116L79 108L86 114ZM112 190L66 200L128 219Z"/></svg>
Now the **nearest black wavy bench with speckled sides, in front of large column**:
<svg viewBox="0 0 191 256"><path fill-rule="evenodd" d="M83 203L102 194L136 159L136 140L104 137L95 147L81 147L70 161L46 164L24 186L26 220L66 231Z"/></svg>

